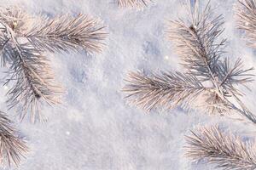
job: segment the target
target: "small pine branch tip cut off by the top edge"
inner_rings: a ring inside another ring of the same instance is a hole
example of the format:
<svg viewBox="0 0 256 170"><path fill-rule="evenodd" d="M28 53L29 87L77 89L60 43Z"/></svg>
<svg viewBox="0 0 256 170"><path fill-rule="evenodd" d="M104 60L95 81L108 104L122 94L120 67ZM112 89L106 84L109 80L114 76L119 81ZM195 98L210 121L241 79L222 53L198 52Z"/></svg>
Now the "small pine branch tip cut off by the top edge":
<svg viewBox="0 0 256 170"><path fill-rule="evenodd" d="M125 8L143 8L151 2L152 0L118 0L118 5Z"/></svg>

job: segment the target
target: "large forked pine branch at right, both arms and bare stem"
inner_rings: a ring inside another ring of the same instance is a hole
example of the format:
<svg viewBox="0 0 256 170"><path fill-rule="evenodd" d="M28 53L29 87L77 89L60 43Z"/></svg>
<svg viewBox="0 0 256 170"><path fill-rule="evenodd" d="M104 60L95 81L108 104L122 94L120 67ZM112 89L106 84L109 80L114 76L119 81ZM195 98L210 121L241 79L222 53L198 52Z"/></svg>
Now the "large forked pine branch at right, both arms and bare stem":
<svg viewBox="0 0 256 170"><path fill-rule="evenodd" d="M240 86L253 82L253 68L241 59L224 56L223 17L209 5L188 4L189 20L170 21L168 37L182 60L184 72L161 72L149 76L131 72L123 88L131 103L147 111L183 106L210 114L236 111L253 123L256 117L241 102ZM234 60L234 59L232 59ZM236 101L236 104L231 101ZM189 107L188 107L189 106Z"/></svg>

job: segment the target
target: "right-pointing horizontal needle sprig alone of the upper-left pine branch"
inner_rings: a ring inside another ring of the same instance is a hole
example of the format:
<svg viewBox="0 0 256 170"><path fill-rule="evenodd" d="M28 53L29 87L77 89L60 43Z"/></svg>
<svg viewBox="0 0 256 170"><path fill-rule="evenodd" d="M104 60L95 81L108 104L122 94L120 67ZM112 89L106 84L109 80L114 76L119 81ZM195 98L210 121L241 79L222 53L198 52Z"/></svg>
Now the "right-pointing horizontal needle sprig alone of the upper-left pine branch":
<svg viewBox="0 0 256 170"><path fill-rule="evenodd" d="M65 14L32 22L32 26L21 36L26 37L34 47L50 52L67 52L69 49L78 51L80 47L90 53L99 53L102 52L102 41L107 36L99 20L85 14L75 17Z"/></svg>

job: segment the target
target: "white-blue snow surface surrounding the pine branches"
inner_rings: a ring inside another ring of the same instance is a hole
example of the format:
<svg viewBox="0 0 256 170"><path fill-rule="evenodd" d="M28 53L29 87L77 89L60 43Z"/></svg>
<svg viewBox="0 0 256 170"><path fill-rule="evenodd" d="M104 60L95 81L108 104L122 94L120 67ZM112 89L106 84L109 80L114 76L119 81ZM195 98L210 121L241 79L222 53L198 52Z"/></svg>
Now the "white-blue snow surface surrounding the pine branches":
<svg viewBox="0 0 256 170"><path fill-rule="evenodd" d="M29 117L20 123L15 118L31 151L19 168L3 169L208 170L215 168L184 156L183 136L190 129L218 123L245 139L253 138L252 126L225 116L188 113L181 108L146 113L125 101L120 89L128 71L183 71L166 37L168 20L186 12L180 2L155 0L148 8L135 10L118 8L114 0L1 0L2 6L16 4L30 13L89 14L101 19L109 32L102 54L49 54L56 79L66 88L63 104L43 108L48 117L44 124L32 124ZM252 66L256 54L236 30L234 3L236 0L211 2L226 21L226 55L241 57ZM256 112L254 87L243 92L247 94L244 102ZM7 90L0 89L3 111L7 111ZM15 110L7 112L15 116Z"/></svg>

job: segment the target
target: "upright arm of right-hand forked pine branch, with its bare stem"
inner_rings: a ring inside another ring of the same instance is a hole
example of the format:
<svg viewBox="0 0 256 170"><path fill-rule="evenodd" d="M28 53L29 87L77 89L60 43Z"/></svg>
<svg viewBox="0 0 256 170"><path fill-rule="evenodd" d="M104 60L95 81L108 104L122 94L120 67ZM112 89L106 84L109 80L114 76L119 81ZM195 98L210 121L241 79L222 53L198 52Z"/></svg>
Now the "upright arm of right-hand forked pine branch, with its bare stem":
<svg viewBox="0 0 256 170"><path fill-rule="evenodd" d="M224 21L221 15L215 17L212 14L209 3L202 11L199 1L194 6L189 4L188 7L190 20L172 21L169 31L169 37L176 44L177 53L184 60L184 67L201 82L211 82L210 87L215 88L218 99L223 100L233 111L256 123L256 116L238 98L236 87L253 81L253 74L249 72L253 68L244 69L241 59L237 59L235 65L231 66L230 59L223 57L222 46L226 40L218 42L218 39L223 32ZM238 106L231 103L230 98L236 99Z"/></svg>

